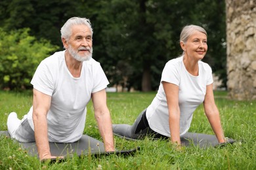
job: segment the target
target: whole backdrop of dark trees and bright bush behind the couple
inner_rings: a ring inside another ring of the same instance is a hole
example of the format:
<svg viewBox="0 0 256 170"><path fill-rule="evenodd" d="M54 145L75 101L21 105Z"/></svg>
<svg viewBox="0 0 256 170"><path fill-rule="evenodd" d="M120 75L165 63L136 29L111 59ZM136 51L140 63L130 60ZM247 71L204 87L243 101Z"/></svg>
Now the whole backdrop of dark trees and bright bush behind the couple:
<svg viewBox="0 0 256 170"><path fill-rule="evenodd" d="M32 88L39 62L63 50L60 27L73 16L91 20L93 58L111 86L122 90L158 90L169 59L182 54L182 27L201 25L208 33L209 63L226 88L226 23L224 1L58 1L0 2L0 88ZM30 36L30 37L28 37Z"/></svg>

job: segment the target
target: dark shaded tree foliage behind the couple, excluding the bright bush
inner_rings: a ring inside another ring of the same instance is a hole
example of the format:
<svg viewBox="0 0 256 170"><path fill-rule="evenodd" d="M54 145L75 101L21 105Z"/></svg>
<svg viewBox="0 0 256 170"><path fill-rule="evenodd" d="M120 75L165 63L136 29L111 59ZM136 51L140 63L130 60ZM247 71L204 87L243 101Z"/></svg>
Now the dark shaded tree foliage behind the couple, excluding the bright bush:
<svg viewBox="0 0 256 170"><path fill-rule="evenodd" d="M72 16L91 19L93 57L102 63L112 85L123 84L126 77L125 68L117 67L121 62L129 69L125 86L158 89L165 63L181 54L179 35L188 24L205 27L209 48L204 60L226 84L224 0L0 1L0 26L30 27L32 35L48 39L59 49L60 27Z"/></svg>

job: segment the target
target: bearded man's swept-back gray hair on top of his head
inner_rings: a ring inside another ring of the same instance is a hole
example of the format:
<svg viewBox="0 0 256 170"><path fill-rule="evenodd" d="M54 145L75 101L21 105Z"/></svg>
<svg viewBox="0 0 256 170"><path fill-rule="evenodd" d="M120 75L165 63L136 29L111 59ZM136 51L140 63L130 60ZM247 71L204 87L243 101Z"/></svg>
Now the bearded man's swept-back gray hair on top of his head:
<svg viewBox="0 0 256 170"><path fill-rule="evenodd" d="M86 25L89 27L92 35L93 35L93 28L91 27L91 22L87 18L79 18L79 17L72 17L67 20L67 22L61 27L60 33L61 38L64 38L66 40L70 39L70 36L72 35L72 26L74 25Z"/></svg>

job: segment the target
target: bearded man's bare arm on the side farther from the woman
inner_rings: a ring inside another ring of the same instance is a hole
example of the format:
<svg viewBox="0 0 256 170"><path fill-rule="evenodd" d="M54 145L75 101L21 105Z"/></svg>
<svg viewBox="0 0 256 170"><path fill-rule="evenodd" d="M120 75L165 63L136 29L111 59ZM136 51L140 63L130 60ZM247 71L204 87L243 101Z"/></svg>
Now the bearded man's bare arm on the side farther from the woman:
<svg viewBox="0 0 256 170"><path fill-rule="evenodd" d="M51 156L48 129L47 113L51 105L51 96L33 89L33 124L35 128L35 143L40 160L56 158Z"/></svg>

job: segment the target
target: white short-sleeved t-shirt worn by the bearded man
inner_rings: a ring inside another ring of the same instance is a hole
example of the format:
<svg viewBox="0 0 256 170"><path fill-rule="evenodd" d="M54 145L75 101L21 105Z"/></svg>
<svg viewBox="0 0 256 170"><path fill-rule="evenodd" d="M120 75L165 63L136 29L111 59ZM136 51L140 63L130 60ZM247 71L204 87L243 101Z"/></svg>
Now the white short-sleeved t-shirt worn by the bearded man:
<svg viewBox="0 0 256 170"><path fill-rule="evenodd" d="M83 61L81 75L75 78L68 70L64 52L41 61L31 83L33 88L52 97L47 114L49 141L72 143L83 134L91 94L103 90L109 82L100 63L93 58ZM28 120L34 129L32 111L31 108L28 112Z"/></svg>

